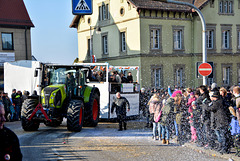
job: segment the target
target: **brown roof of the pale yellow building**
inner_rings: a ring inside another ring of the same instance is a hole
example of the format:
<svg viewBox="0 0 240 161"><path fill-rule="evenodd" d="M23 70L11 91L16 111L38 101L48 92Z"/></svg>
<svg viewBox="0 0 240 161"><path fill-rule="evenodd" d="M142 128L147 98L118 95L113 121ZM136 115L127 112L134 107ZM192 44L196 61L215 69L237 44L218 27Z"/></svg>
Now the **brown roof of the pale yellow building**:
<svg viewBox="0 0 240 161"><path fill-rule="evenodd" d="M160 2L156 0L127 0L131 3L136 9L149 9L149 10L163 10L163 11L178 11L178 12L192 12L191 7L186 5L179 5L174 3ZM209 0L176 0L181 2L191 3L202 9ZM80 16L74 16L70 27L76 28L79 22Z"/></svg>

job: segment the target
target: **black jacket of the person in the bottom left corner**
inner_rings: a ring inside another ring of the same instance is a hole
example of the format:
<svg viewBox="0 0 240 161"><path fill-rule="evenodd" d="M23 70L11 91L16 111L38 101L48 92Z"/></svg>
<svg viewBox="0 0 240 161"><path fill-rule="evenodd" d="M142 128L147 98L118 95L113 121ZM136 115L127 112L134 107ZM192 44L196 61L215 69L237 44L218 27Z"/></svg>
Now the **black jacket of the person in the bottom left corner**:
<svg viewBox="0 0 240 161"><path fill-rule="evenodd" d="M3 127L3 129L0 130L0 161L5 160L4 157L7 155L10 156L10 160L22 160L22 153L17 135L10 129Z"/></svg>

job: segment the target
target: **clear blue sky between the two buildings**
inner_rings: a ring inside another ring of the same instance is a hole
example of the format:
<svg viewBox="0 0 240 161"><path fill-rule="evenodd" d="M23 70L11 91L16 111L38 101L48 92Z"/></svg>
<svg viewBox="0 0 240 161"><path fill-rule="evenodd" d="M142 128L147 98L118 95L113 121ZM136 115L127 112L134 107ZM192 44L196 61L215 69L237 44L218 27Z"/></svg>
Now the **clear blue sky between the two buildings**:
<svg viewBox="0 0 240 161"><path fill-rule="evenodd" d="M72 64L78 57L77 30L69 28L72 0L23 0L30 19L32 55L44 63Z"/></svg>

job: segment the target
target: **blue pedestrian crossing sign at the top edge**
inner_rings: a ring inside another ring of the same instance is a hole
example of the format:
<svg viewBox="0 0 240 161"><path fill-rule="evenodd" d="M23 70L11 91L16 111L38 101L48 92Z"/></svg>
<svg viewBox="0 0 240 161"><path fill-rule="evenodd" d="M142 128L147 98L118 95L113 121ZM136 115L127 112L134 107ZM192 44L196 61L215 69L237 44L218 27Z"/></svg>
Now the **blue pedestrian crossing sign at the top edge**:
<svg viewBox="0 0 240 161"><path fill-rule="evenodd" d="M91 15L92 0L72 0L72 13L74 15Z"/></svg>

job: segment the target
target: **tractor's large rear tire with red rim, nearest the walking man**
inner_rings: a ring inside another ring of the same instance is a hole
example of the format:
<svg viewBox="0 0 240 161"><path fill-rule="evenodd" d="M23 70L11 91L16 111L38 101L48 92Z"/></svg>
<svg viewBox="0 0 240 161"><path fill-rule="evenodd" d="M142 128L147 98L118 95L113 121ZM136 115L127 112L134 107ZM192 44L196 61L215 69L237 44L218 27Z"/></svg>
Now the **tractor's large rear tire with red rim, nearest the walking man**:
<svg viewBox="0 0 240 161"><path fill-rule="evenodd" d="M94 93L88 106L85 108L84 126L96 127L99 121L100 115L100 96L98 93Z"/></svg>

